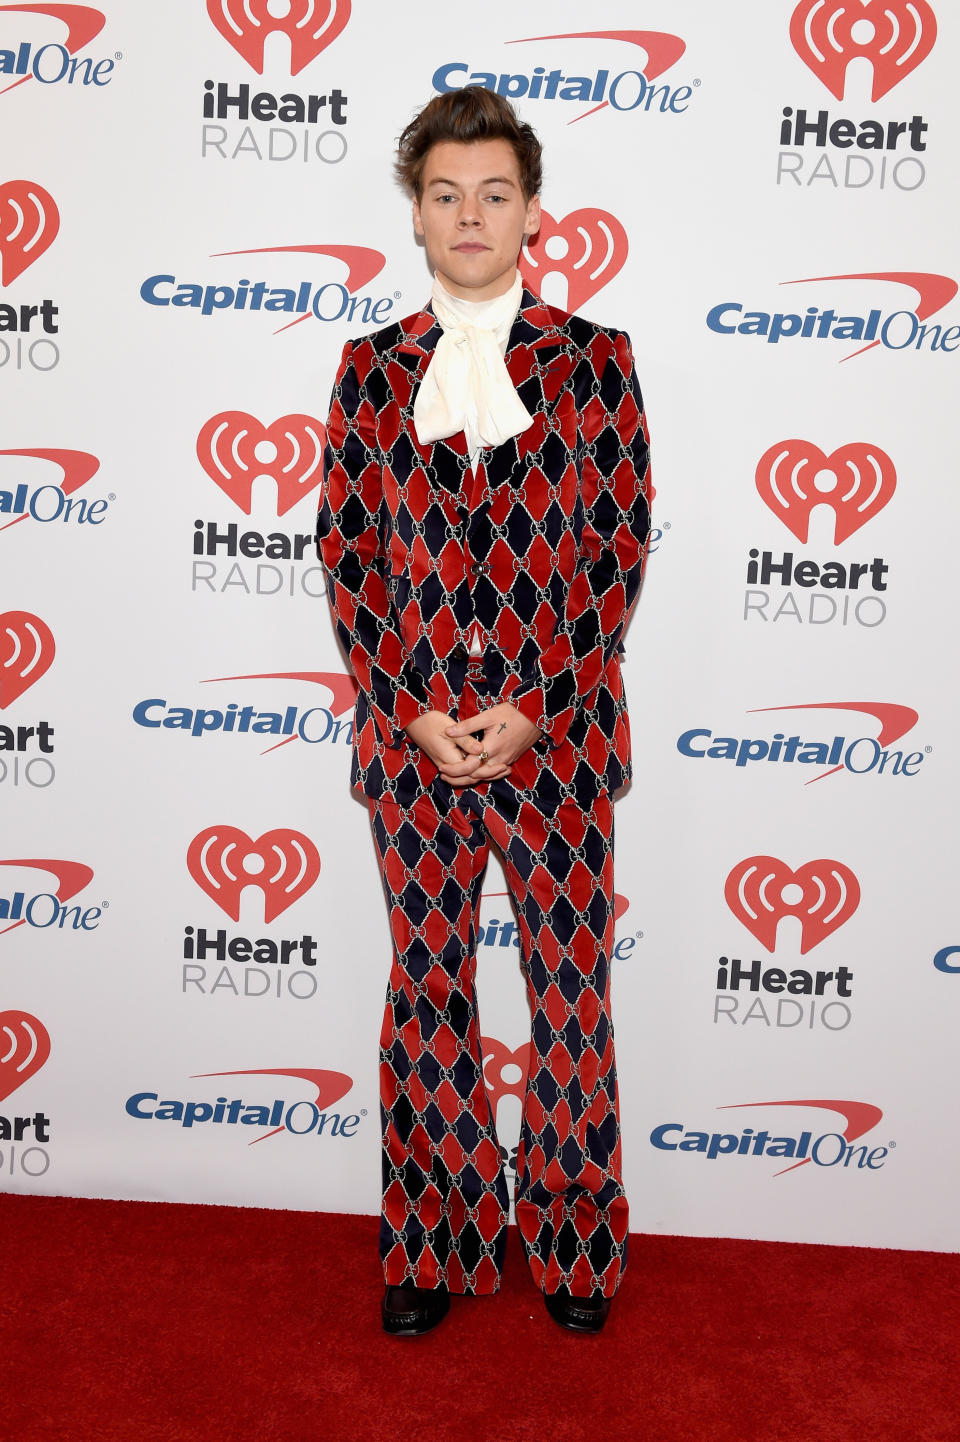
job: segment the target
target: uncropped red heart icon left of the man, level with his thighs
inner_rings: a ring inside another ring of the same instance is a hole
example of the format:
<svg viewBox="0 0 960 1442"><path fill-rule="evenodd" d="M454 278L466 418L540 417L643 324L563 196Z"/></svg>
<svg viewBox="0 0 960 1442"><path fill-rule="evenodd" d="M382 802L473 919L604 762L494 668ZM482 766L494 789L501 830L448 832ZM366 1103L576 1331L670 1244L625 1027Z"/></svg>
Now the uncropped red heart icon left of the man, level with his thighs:
<svg viewBox="0 0 960 1442"><path fill-rule="evenodd" d="M265 831L252 841L236 826L208 826L187 849L187 868L202 891L239 921L246 887L264 894L264 921L274 921L320 875L320 854L300 831Z"/></svg>

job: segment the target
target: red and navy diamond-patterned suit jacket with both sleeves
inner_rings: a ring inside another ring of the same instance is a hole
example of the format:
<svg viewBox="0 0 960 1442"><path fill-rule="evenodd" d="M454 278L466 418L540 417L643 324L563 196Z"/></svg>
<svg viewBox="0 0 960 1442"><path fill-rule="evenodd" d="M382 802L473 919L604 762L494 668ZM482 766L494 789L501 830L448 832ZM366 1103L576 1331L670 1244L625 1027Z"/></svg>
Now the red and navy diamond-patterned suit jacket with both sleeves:
<svg viewBox="0 0 960 1442"><path fill-rule="evenodd" d="M509 782L548 812L588 803L630 776L620 652L649 531L630 342L525 290L505 359L533 424L474 476L463 433L414 430L441 333L427 309L349 342L333 388L317 544L360 686L352 782L402 805L445 784L404 727L476 709L476 620L483 704L542 730Z"/></svg>

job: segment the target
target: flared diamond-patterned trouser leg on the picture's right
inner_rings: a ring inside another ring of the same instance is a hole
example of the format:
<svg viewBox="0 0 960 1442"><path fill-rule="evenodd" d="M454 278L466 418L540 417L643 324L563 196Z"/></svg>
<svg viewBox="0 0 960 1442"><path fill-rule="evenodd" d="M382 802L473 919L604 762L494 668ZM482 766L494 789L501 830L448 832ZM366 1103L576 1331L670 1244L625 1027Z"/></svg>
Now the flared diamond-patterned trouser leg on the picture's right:
<svg viewBox="0 0 960 1442"><path fill-rule="evenodd" d="M627 1257L627 1198L610 1019L613 802L546 818L492 786L484 825L517 904L532 1009L516 1218L546 1292L613 1296Z"/></svg>

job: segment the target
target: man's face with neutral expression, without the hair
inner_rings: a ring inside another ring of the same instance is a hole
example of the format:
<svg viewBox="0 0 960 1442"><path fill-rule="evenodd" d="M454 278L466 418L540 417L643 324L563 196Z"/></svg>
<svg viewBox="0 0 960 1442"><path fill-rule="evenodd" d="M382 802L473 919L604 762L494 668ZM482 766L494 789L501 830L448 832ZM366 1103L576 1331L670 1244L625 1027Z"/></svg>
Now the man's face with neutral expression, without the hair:
<svg viewBox="0 0 960 1442"><path fill-rule="evenodd" d="M443 140L427 154L414 229L451 296L493 300L513 284L525 235L541 225L541 202L526 200L507 140Z"/></svg>

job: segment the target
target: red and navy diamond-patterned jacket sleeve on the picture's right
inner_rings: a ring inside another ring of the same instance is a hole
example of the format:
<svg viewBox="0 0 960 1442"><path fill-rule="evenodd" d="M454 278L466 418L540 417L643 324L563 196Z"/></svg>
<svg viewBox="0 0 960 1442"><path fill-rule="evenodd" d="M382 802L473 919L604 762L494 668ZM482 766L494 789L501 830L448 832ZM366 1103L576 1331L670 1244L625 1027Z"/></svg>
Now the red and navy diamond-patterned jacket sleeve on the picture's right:
<svg viewBox="0 0 960 1442"><path fill-rule="evenodd" d="M578 709L590 705L620 645L640 580L650 529L649 441L630 339L614 336L582 410L581 558L564 614L533 678L513 678L503 699L559 746Z"/></svg>

